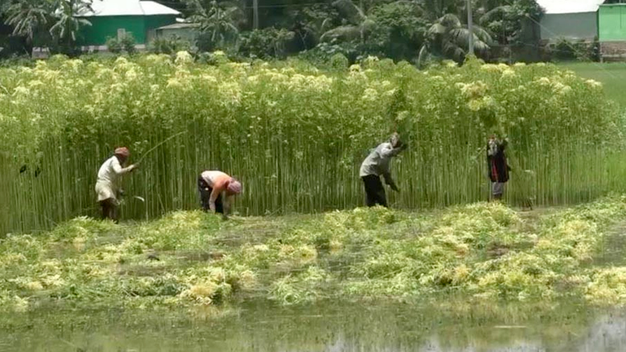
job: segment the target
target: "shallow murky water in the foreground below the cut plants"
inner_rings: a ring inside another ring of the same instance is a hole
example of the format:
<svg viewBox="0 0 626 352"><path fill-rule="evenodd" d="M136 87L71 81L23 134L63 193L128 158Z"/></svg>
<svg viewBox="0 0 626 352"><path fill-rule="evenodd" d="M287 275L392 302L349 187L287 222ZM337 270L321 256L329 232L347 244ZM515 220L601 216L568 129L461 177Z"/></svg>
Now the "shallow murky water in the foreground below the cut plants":
<svg viewBox="0 0 626 352"><path fill-rule="evenodd" d="M279 308L254 303L222 316L195 308L50 311L6 317L0 323L0 351L626 351L626 314L594 313L582 306L566 310L505 307L506 314L453 314L409 304Z"/></svg>

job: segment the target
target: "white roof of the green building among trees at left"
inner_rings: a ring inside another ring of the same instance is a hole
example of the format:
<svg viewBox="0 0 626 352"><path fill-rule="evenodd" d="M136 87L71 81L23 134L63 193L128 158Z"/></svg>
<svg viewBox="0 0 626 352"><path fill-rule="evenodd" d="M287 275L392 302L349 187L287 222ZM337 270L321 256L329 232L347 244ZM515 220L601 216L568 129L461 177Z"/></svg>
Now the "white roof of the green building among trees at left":
<svg viewBox="0 0 626 352"><path fill-rule="evenodd" d="M152 16L157 14L180 14L175 9L168 8L154 1L140 0L94 0L91 8L93 8L93 12L87 11L81 14L81 16Z"/></svg>

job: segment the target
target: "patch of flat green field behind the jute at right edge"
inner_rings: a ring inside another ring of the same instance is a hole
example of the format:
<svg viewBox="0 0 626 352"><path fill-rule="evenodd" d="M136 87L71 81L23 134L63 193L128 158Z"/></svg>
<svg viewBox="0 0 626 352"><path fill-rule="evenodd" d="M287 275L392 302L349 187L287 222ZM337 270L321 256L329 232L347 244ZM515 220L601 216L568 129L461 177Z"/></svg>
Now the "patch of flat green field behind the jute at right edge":
<svg viewBox="0 0 626 352"><path fill-rule="evenodd" d="M626 63L560 63L585 78L603 83L607 96L626 106Z"/></svg>

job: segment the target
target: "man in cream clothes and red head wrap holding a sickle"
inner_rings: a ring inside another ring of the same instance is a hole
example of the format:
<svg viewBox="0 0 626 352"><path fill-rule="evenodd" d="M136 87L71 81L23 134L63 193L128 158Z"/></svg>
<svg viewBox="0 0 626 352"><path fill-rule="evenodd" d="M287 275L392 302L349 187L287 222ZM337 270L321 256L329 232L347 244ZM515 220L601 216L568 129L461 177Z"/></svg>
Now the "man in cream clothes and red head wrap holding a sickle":
<svg viewBox="0 0 626 352"><path fill-rule="evenodd" d="M113 157L108 158L98 171L96 181L96 194L98 203L102 208L102 218L111 219L117 222L118 197L123 194L120 187L121 175L131 172L136 165L123 167L130 157L130 152L126 147L116 148Z"/></svg>

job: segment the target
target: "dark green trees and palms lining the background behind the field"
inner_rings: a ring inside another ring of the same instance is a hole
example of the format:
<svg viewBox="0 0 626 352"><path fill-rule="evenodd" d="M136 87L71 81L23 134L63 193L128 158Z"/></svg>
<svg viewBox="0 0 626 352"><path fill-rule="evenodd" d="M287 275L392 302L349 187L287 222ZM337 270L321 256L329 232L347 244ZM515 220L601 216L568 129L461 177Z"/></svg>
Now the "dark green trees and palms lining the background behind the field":
<svg viewBox="0 0 626 352"><path fill-rule="evenodd" d="M473 0L476 26L471 34L465 0L259 0L257 27L252 0L161 3L200 24L200 38L190 43L199 52L220 49L232 56L264 59L305 52L322 59L342 53L352 62L368 55L420 64L441 58L461 62L471 35L481 58L540 58L538 50L528 50L539 47L536 26L542 10L534 0ZM80 28L90 23L74 15L90 4L91 0L4 1L0 55L28 54L33 46L78 54Z"/></svg>

